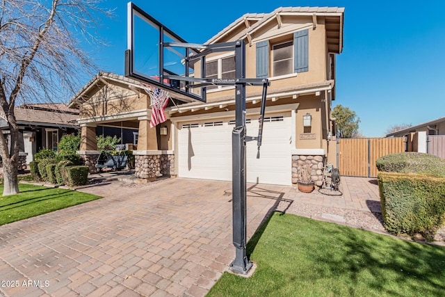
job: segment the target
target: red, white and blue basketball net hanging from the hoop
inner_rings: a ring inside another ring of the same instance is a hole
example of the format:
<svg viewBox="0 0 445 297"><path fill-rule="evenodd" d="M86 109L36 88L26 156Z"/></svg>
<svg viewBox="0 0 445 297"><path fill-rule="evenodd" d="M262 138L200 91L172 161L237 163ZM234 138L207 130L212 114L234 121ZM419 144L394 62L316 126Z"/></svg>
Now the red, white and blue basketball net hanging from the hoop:
<svg viewBox="0 0 445 297"><path fill-rule="evenodd" d="M152 107L152 117L150 119L150 127L155 127L161 122L165 122L165 106L168 104L168 99L170 95L168 91L162 90L161 88L155 88L154 86L147 85L145 83L140 83L145 90L145 92L150 96L150 106Z"/></svg>

